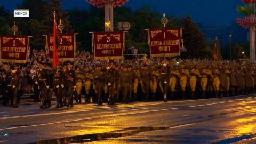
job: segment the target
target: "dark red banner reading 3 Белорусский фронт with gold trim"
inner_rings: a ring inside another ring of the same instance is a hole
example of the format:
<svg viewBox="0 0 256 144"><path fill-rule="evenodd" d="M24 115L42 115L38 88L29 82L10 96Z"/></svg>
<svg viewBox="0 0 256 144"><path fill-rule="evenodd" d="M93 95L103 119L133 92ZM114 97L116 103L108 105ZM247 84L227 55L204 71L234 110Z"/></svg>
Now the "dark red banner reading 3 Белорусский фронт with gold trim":
<svg viewBox="0 0 256 144"><path fill-rule="evenodd" d="M124 31L94 32L94 59L123 59Z"/></svg>

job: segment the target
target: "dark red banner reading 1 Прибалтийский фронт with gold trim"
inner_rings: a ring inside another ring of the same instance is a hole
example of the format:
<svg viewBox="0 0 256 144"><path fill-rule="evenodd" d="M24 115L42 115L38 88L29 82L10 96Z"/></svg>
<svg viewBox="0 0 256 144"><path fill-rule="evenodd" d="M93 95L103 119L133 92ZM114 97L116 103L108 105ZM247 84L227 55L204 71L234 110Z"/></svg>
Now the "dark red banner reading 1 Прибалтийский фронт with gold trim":
<svg viewBox="0 0 256 144"><path fill-rule="evenodd" d="M180 55L181 28L149 29L151 57L177 57Z"/></svg>

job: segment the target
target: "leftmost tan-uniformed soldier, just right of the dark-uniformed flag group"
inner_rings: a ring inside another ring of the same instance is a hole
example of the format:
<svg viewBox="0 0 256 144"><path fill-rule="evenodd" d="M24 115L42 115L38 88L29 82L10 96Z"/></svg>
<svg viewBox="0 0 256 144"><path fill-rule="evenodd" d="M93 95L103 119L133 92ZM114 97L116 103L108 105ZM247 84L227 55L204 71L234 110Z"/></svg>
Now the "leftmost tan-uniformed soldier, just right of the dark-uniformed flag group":
<svg viewBox="0 0 256 144"><path fill-rule="evenodd" d="M76 68L76 103L82 103L81 90L83 86L84 74L81 73L80 68Z"/></svg>

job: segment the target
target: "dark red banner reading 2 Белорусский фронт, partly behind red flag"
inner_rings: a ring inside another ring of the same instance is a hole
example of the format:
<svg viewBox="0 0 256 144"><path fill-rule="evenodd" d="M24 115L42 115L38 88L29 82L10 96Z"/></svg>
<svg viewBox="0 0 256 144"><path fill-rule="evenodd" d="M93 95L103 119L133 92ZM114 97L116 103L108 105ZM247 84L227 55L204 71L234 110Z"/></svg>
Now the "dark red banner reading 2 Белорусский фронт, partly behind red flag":
<svg viewBox="0 0 256 144"><path fill-rule="evenodd" d="M73 60L76 51L75 34L58 35L58 55L60 60ZM53 35L46 35L46 51L49 58L53 58Z"/></svg>

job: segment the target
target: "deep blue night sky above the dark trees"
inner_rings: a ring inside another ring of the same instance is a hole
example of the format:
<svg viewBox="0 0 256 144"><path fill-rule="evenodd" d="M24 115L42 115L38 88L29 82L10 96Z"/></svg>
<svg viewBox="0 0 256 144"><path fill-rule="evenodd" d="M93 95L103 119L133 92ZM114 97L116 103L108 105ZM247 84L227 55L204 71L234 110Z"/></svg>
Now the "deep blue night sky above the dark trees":
<svg viewBox="0 0 256 144"><path fill-rule="evenodd" d="M22 0L0 0L0 6L12 11L21 2ZM125 6L135 10L143 4L150 4L157 11L165 12L170 16L178 15L180 17L182 14L190 13L194 22L212 26L229 26L236 20L236 17L240 16L236 12L236 7L243 5L241 0L129 0ZM64 9L73 7L83 9L88 5L85 0L63 0L62 3Z"/></svg>

